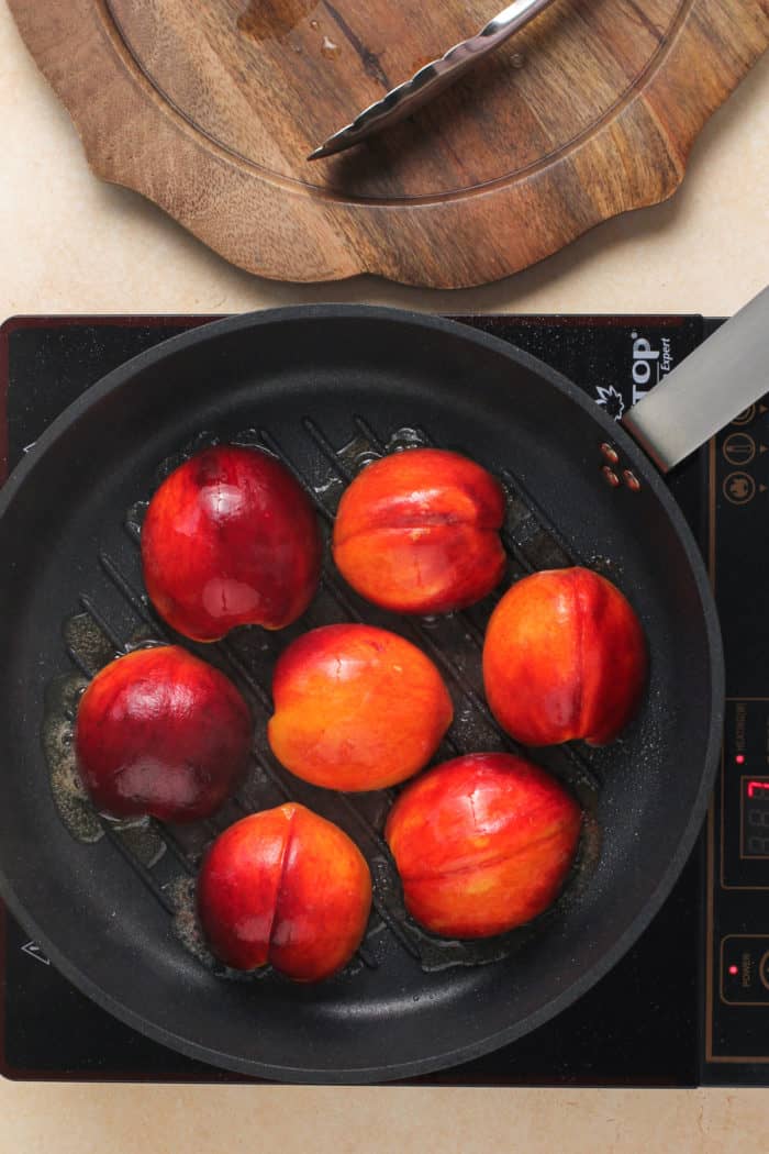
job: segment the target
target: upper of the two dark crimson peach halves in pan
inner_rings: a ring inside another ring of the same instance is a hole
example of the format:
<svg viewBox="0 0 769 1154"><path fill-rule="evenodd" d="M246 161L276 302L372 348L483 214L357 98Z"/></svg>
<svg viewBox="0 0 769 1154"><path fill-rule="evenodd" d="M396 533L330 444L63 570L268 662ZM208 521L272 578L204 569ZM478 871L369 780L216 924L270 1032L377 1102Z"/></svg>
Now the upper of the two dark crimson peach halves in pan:
<svg viewBox="0 0 769 1154"><path fill-rule="evenodd" d="M142 564L164 621L213 642L235 625L282 629L301 616L321 574L321 537L280 462L217 445L175 469L150 501Z"/></svg>

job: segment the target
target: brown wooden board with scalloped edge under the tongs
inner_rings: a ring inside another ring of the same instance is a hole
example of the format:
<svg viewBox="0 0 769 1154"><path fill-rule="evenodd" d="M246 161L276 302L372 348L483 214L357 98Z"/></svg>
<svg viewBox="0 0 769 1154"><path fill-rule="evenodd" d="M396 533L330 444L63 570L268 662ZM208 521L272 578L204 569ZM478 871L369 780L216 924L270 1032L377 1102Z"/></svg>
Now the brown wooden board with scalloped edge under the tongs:
<svg viewBox="0 0 769 1154"><path fill-rule="evenodd" d="M557 0L416 115L331 132L502 0L9 0L100 177L262 276L495 280L674 192L769 0Z"/></svg>

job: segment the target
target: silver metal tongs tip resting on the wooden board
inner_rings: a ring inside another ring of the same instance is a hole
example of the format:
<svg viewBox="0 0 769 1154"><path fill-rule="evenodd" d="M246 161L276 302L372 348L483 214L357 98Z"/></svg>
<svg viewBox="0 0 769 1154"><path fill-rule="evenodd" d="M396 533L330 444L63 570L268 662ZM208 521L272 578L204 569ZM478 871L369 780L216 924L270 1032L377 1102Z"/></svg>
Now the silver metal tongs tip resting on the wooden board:
<svg viewBox="0 0 769 1154"><path fill-rule="evenodd" d="M380 100L370 104L368 108L355 117L355 120L345 128L340 128L319 148L316 148L308 159L319 160L321 157L344 152L353 144L364 141L367 136L374 136L383 128L389 128L390 125L397 125L399 120L410 117L416 108L427 104L438 92L443 92L478 60L498 48L500 44L504 44L514 32L528 24L551 3L553 0L514 0L513 3L503 8L493 20L490 20L477 36L455 44L439 60L431 60L429 65L420 68L410 80L391 89Z"/></svg>

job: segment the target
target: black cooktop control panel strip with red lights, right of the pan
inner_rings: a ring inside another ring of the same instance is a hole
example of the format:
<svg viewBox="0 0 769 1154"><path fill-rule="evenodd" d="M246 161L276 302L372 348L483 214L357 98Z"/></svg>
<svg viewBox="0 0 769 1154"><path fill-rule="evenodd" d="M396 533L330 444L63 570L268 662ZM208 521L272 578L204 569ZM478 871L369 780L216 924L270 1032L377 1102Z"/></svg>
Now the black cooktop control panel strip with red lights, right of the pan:
<svg viewBox="0 0 769 1154"><path fill-rule="evenodd" d="M709 503L726 712L708 824L704 1048L709 1072L733 1082L769 1073L769 396L713 442Z"/></svg>

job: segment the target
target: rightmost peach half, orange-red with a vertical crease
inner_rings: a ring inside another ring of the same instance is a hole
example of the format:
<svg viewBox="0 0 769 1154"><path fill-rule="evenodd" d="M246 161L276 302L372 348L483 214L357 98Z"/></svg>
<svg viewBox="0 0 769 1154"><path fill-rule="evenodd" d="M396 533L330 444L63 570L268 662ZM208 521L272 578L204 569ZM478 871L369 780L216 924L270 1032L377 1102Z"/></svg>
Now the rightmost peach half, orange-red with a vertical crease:
<svg viewBox="0 0 769 1154"><path fill-rule="evenodd" d="M639 709L647 669L633 608L616 585L581 568L513 585L483 646L489 705L526 745L612 741Z"/></svg>

